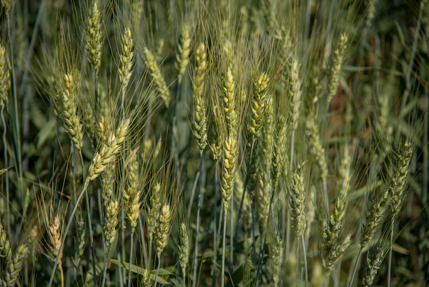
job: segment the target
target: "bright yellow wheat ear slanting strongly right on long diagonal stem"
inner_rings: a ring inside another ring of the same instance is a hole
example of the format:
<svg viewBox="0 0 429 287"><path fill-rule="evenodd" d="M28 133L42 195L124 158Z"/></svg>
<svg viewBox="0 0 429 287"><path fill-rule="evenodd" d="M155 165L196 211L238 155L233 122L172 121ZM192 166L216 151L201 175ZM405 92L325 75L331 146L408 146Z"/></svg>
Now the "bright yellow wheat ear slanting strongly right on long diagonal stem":
<svg viewBox="0 0 429 287"><path fill-rule="evenodd" d="M104 172L108 168L108 165L114 161L116 154L121 149L122 143L125 140L129 125L130 119L125 119L125 122L121 122L116 132L112 133L108 138L108 142L103 145L101 151L96 152L93 162L88 169L86 184L97 179L101 172Z"/></svg>

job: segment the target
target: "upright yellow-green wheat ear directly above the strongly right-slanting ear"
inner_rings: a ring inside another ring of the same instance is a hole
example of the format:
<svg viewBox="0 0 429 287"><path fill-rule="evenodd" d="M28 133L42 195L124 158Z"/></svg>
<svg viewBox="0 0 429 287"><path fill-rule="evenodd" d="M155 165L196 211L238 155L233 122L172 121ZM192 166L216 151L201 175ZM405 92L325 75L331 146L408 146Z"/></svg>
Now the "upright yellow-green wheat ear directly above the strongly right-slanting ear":
<svg viewBox="0 0 429 287"><path fill-rule="evenodd" d="M122 52L119 56L121 67L119 68L119 81L121 82L122 93L125 93L128 82L132 76L132 64L134 62L134 41L130 28L125 28L122 35Z"/></svg>

